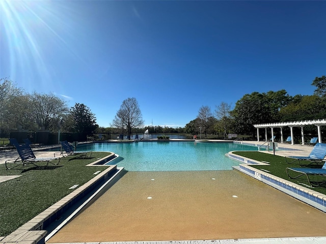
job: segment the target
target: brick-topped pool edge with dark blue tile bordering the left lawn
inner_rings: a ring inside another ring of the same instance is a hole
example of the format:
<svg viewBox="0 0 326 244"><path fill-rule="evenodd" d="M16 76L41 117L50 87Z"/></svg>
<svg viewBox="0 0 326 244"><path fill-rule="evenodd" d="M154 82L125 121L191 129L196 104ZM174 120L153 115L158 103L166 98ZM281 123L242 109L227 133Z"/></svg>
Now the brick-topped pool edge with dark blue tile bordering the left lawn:
<svg viewBox="0 0 326 244"><path fill-rule="evenodd" d="M103 161L107 163L112 161L112 154L102 159L98 159L94 163ZM92 164L94 164L92 163ZM73 192L49 206L39 215L20 226L14 232L7 236L0 236L0 244L43 244L45 243L45 237L47 231L44 230L51 222L55 221L60 215L63 214L69 207L71 207L78 200L86 196L91 190L100 185L103 181L111 181L117 176L123 167L117 167L117 165L92 165L87 166L106 166L102 172L99 172L96 176L86 182L83 186L76 188Z"/></svg>

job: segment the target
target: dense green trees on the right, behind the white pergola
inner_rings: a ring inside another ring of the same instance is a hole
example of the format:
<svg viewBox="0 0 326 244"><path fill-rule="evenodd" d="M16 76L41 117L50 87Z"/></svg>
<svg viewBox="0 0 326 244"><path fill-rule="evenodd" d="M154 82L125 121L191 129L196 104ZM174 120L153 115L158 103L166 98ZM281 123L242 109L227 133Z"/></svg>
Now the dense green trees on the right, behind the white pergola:
<svg viewBox="0 0 326 244"><path fill-rule="evenodd" d="M326 76L316 77L311 85L316 87L311 96L292 97L285 89L270 90L244 95L235 103L233 110L230 104L224 102L215 106L214 114L208 106L202 106L197 118L185 126L185 132L198 133L200 128L205 136L216 133L255 136L255 124L326 118ZM316 134L316 131L315 126L305 127L307 134Z"/></svg>

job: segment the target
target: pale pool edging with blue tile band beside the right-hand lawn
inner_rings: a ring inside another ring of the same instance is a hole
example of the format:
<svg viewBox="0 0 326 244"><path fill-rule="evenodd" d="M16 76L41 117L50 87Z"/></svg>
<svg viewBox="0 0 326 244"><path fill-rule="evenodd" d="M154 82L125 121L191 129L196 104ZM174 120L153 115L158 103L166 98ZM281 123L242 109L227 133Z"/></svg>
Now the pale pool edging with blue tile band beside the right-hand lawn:
<svg viewBox="0 0 326 244"><path fill-rule="evenodd" d="M259 170L250 165L268 165L257 160L249 159L239 155L233 154L233 151L230 151L227 156L230 159L241 162L239 166L233 166L233 169L236 169L242 173L245 173L271 187L274 187L302 202L305 202L323 212L326 212L326 195L316 192L307 187L297 185L289 180L280 178L273 174L269 174L263 170Z"/></svg>

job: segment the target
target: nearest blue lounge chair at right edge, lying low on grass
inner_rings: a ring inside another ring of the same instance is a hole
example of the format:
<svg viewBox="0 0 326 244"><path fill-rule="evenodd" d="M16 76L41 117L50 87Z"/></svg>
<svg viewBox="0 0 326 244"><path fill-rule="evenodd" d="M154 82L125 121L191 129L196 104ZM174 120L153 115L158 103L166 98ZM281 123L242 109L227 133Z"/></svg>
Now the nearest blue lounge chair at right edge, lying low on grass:
<svg viewBox="0 0 326 244"><path fill-rule="evenodd" d="M293 171L293 172L296 172L296 173L299 173L299 174L296 175L296 176L290 176L289 175L290 171ZM316 169L316 168L286 168L286 173L287 173L287 176L289 176L289 178L291 178L291 179L295 179L297 177L305 175L307 177L307 179L308 179L308 183L312 187L318 187L318 186L326 183L326 179L322 180L322 181L318 181L318 182L313 182L309 178L310 175L326 176L326 163L324 163L324 165L322 166L321 169Z"/></svg>

